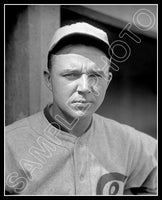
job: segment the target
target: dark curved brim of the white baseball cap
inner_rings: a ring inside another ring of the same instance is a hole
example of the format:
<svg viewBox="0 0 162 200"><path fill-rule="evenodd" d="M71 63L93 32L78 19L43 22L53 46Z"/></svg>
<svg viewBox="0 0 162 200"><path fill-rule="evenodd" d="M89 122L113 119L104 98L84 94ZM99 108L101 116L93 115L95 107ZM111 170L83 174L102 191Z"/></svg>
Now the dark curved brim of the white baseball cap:
<svg viewBox="0 0 162 200"><path fill-rule="evenodd" d="M51 47L50 53L56 54L59 50L69 44L84 44L87 46L94 46L97 49L100 49L106 55L106 57L110 59L109 45L106 42L97 37L82 33L73 33L61 38L57 44Z"/></svg>

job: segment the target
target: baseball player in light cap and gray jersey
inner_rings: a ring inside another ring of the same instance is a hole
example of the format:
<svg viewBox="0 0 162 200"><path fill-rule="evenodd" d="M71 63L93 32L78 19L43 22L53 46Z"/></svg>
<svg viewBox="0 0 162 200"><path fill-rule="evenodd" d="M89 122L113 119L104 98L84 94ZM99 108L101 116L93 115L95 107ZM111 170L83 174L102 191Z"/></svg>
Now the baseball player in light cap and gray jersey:
<svg viewBox="0 0 162 200"><path fill-rule="evenodd" d="M88 23L56 31L44 71L53 102L6 127L6 194L157 194L156 140L95 114L112 79L108 49Z"/></svg>

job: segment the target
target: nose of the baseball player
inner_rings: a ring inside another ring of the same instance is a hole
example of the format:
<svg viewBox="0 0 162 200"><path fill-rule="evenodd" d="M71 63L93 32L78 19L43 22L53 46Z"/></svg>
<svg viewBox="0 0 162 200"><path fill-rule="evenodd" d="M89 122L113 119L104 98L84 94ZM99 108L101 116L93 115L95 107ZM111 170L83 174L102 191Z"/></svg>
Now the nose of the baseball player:
<svg viewBox="0 0 162 200"><path fill-rule="evenodd" d="M88 76L86 74L82 74L79 83L78 83L78 92L81 93L89 93L90 88L89 88L89 80Z"/></svg>

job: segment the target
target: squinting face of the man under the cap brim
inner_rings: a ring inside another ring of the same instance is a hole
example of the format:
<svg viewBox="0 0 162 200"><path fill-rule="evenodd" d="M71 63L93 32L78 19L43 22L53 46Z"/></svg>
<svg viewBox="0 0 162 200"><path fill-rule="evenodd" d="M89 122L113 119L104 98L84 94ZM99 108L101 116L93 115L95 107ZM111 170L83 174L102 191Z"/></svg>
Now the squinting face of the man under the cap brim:
<svg viewBox="0 0 162 200"><path fill-rule="evenodd" d="M84 117L102 104L109 71L103 58L103 52L84 45L67 47L52 57L53 101L63 115Z"/></svg>

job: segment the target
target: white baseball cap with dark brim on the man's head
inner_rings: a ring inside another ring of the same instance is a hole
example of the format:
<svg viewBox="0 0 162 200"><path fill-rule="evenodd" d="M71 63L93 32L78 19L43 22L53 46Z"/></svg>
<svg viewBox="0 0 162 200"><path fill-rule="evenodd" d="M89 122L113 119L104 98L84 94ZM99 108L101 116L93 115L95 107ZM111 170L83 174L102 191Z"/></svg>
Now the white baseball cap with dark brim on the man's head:
<svg viewBox="0 0 162 200"><path fill-rule="evenodd" d="M86 44L102 50L108 58L109 41L107 33L86 22L77 22L59 28L50 43L49 52L57 52L68 44Z"/></svg>

